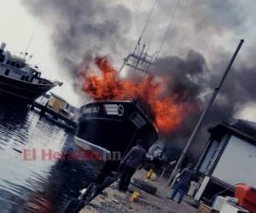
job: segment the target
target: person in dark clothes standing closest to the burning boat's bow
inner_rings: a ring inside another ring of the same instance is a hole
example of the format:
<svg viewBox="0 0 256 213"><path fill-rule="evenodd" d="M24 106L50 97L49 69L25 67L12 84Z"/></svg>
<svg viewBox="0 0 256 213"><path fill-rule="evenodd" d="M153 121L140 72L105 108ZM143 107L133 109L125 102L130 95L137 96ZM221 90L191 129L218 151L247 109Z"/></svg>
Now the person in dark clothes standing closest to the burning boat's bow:
<svg viewBox="0 0 256 213"><path fill-rule="evenodd" d="M143 147L143 144L143 140L138 140L137 146L132 147L130 152L127 153L125 158L121 161L121 164L123 164L119 180L119 191L121 192L127 191L131 182L131 177L134 175L137 168L143 164L146 155L146 150Z"/></svg>

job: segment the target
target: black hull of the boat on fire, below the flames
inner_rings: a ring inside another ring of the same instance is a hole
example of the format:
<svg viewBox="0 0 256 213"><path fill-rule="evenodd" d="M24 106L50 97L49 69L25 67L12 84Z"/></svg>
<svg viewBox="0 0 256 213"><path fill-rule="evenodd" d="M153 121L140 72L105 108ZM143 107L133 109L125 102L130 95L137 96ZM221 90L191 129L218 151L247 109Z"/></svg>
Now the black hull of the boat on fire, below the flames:
<svg viewBox="0 0 256 213"><path fill-rule="evenodd" d="M79 124L74 137L78 147L90 150L117 169L119 160L136 145L137 139L150 147L157 140L154 124L132 101L92 102L80 109ZM119 153L119 157L118 157Z"/></svg>

